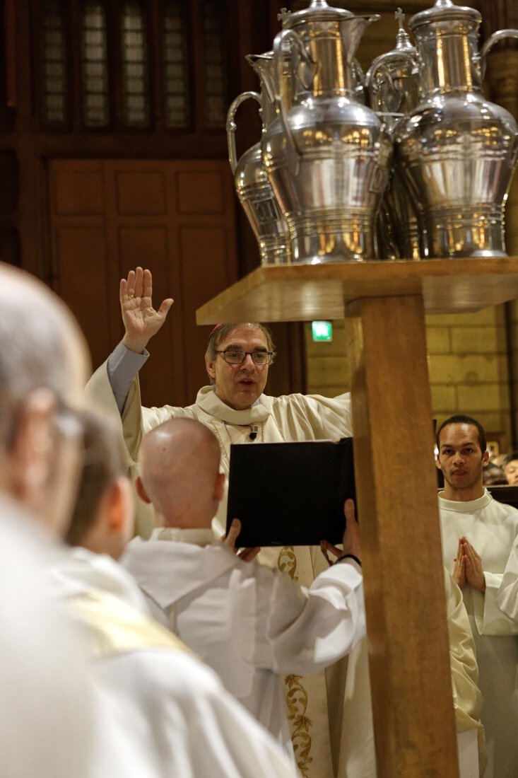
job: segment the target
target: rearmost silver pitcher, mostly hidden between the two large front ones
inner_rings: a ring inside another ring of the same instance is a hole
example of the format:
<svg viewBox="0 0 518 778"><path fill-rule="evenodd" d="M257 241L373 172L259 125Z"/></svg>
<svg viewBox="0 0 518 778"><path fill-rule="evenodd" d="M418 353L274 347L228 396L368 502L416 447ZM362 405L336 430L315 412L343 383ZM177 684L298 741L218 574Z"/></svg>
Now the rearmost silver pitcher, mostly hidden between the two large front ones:
<svg viewBox="0 0 518 778"><path fill-rule="evenodd" d="M419 102L418 51L404 30L404 13L397 9L396 47L373 60L366 72L369 106L383 118L392 136L397 119L409 114ZM378 218L380 256L386 259L418 260L428 255L422 209L410 196L394 166Z"/></svg>

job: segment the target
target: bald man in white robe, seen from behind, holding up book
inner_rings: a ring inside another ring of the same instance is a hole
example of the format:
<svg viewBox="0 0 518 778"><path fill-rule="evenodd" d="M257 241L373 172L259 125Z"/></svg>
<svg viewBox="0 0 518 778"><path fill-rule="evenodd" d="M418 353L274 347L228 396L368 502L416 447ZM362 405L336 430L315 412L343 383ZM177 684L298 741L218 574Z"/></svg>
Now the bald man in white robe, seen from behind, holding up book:
<svg viewBox="0 0 518 778"><path fill-rule="evenodd" d="M295 697L296 675L326 667L365 634L354 504L348 501L341 561L301 587L215 541L211 520L225 479L219 458L215 435L192 419L172 419L145 436L137 488L154 506L157 527L149 541L131 541L123 562L156 618L292 753L279 675L291 675ZM250 499L265 495L268 483L257 473ZM231 542L238 532L235 521ZM303 733L297 746L304 747Z"/></svg>

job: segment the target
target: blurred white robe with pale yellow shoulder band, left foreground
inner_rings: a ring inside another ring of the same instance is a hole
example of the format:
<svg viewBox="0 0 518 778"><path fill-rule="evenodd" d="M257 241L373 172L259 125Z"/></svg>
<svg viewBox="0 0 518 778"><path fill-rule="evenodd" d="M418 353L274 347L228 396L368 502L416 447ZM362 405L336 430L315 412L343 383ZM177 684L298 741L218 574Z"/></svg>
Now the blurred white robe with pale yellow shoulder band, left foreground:
<svg viewBox="0 0 518 778"><path fill-rule="evenodd" d="M219 678L149 617L135 580L106 555L72 549L50 570L83 630L107 702L107 743L124 744L102 778L295 778L268 732Z"/></svg>

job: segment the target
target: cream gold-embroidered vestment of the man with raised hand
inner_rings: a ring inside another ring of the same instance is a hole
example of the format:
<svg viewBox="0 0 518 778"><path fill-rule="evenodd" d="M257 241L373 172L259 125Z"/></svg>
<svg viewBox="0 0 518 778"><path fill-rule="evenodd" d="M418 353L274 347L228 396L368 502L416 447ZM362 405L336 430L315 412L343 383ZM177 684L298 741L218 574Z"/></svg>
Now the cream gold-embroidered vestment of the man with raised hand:
<svg viewBox="0 0 518 778"><path fill-rule="evenodd" d="M107 362L93 374L87 386L89 395L114 419L121 420L117 401L110 386ZM351 396L336 398L321 395L287 394L271 397L261 394L257 403L244 411L229 408L215 395L213 386L202 387L193 405L186 408L165 405L142 408L138 377L135 377L124 404L122 434L128 449L128 468L132 478L138 474L138 448L149 429L168 419L198 419L215 433L221 449L222 470L229 474L231 443L275 443L289 440L336 439L352 435ZM257 437L250 441L250 426L256 425ZM226 491L213 526L222 534L226 527ZM153 527L152 511L138 501L137 531L149 538ZM268 505L265 506L268 508ZM315 576L327 567L317 546L264 548L259 561L287 573L298 584L310 587ZM310 676L286 678L285 698L292 726L296 759L304 778L334 778L338 766L340 727L343 706L341 676L345 668L338 663Z"/></svg>

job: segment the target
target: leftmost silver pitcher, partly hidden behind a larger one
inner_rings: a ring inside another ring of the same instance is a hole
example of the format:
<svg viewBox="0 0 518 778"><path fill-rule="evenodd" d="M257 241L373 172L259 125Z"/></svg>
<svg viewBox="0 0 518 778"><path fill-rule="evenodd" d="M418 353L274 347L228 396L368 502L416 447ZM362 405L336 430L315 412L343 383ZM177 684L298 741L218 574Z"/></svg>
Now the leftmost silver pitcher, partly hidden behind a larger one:
<svg viewBox="0 0 518 778"><path fill-rule="evenodd" d="M247 61L259 76L261 93L243 92L229 107L226 117L229 163L237 196L257 240L261 264L282 265L291 259L289 229L264 169L261 142L247 149L239 160L236 153L236 111L241 103L245 100L256 100L259 103L263 132L275 119L275 90L271 75L273 54L271 51L266 54L248 54Z"/></svg>

